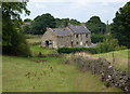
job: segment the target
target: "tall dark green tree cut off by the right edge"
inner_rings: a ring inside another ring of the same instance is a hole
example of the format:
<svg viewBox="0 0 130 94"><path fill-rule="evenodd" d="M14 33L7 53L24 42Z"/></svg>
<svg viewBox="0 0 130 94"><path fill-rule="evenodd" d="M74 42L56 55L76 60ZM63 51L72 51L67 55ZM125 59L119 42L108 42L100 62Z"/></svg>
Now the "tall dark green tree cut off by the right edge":
<svg viewBox="0 0 130 94"><path fill-rule="evenodd" d="M118 39L120 45L130 48L130 1L116 12L116 17L113 21L113 37Z"/></svg>

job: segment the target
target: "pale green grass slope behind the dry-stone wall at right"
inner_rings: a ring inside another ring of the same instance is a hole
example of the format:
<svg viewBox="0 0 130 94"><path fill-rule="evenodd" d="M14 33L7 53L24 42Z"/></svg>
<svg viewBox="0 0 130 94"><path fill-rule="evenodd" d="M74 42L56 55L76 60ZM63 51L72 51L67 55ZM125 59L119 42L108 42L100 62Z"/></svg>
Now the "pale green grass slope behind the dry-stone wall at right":
<svg viewBox="0 0 130 94"><path fill-rule="evenodd" d="M94 54L93 57L103 57L109 61L116 68L120 70L128 70L128 51L130 50L121 50L121 51L114 51L114 58L115 62L113 64L113 52L103 53L103 54Z"/></svg>

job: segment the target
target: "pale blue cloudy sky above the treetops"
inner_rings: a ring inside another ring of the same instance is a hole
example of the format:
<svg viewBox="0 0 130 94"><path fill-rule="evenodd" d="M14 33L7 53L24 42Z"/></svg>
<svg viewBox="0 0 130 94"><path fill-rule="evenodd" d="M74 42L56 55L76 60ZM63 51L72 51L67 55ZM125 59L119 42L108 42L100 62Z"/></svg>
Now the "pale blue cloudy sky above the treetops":
<svg viewBox="0 0 130 94"><path fill-rule="evenodd" d="M81 23L92 16L100 16L103 23L113 23L115 13L128 0L29 0L27 9L29 16L22 14L22 18L34 19L38 15L50 13L55 18L75 18Z"/></svg>

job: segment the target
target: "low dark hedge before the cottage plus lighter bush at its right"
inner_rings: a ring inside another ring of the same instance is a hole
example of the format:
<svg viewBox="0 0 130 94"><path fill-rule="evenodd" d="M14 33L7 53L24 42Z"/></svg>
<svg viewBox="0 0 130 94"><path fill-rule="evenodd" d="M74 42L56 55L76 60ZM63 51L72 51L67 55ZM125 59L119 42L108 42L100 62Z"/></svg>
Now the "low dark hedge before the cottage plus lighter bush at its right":
<svg viewBox="0 0 130 94"><path fill-rule="evenodd" d="M95 48L58 48L58 53L76 53L76 52L89 52L92 54L106 53L116 50L125 50L125 46L118 45L118 40L113 39L109 36L103 40L103 42L98 43Z"/></svg>

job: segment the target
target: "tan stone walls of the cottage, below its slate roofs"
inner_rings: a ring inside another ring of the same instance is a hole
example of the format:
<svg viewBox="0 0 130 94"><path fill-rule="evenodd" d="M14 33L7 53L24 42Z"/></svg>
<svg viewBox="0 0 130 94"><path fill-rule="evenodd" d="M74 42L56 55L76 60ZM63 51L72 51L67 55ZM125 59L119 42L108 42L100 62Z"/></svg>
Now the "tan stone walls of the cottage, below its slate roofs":
<svg viewBox="0 0 130 94"><path fill-rule="evenodd" d="M46 48L46 41L49 40L52 41L52 48L55 49L63 46L89 46L91 44L91 33L57 37L51 28L48 28L41 38L41 46Z"/></svg>

